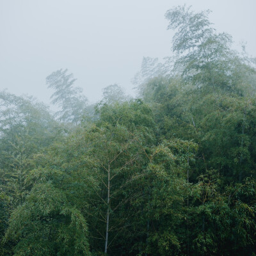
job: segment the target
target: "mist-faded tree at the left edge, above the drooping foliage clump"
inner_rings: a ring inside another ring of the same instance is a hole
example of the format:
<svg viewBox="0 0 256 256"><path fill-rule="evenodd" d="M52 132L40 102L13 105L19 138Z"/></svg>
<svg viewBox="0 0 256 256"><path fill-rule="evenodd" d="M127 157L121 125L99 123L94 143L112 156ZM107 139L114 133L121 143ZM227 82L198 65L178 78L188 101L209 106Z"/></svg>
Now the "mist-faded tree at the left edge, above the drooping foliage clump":
<svg viewBox="0 0 256 256"><path fill-rule="evenodd" d="M24 203L24 180L33 155L60 136L58 125L44 104L1 92L0 188L12 198L12 207Z"/></svg>

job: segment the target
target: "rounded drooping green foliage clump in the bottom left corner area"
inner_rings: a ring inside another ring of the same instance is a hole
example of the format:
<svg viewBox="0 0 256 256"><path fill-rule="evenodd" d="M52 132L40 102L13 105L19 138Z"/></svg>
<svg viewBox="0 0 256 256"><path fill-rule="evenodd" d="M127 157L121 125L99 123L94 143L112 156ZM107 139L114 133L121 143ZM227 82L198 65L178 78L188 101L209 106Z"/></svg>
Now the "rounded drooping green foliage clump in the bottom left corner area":
<svg viewBox="0 0 256 256"><path fill-rule="evenodd" d="M81 213L48 182L12 212L6 239L17 241L14 255L90 255L86 233Z"/></svg>

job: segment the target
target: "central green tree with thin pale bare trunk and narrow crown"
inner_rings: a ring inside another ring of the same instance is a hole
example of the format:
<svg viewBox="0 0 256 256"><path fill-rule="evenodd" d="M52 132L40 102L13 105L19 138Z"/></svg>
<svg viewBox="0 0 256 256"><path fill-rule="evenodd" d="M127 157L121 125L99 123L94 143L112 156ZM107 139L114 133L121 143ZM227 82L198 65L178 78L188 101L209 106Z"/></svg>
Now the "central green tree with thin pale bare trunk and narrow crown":
<svg viewBox="0 0 256 256"><path fill-rule="evenodd" d="M99 217L106 215L103 222L106 223L104 252L107 253L109 244L113 246L116 239L113 232L121 234L129 223L131 212L122 209L127 209L136 193L129 188L140 177L141 166L147 161L145 148L154 140L154 122L150 109L140 100L104 105L99 113L97 128L86 138L92 145L88 154L95 159L96 179L100 181L101 208L105 212L98 206L97 214ZM99 229L95 227L95 230Z"/></svg>

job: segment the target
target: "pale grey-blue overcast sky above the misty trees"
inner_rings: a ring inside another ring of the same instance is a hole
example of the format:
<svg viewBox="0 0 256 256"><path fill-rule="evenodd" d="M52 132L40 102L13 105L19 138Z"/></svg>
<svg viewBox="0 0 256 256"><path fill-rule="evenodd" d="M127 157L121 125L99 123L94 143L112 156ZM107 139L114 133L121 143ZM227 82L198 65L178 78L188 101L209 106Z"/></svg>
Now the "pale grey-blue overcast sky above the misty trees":
<svg viewBox="0 0 256 256"><path fill-rule="evenodd" d="M143 56L172 55L164 13L184 3L256 56L255 0L0 0L0 90L48 104L45 77L68 68L91 102L109 84L131 93Z"/></svg>

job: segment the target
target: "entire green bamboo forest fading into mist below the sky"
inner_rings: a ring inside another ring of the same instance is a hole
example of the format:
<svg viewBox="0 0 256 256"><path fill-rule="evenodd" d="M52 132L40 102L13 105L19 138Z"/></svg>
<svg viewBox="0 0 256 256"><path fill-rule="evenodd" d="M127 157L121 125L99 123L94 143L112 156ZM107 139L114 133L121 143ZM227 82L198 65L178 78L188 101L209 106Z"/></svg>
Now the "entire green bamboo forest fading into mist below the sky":
<svg viewBox="0 0 256 256"><path fill-rule="evenodd" d="M166 12L173 56L138 99L92 106L68 70L49 109L0 93L0 255L255 255L255 59L209 12Z"/></svg>

